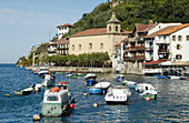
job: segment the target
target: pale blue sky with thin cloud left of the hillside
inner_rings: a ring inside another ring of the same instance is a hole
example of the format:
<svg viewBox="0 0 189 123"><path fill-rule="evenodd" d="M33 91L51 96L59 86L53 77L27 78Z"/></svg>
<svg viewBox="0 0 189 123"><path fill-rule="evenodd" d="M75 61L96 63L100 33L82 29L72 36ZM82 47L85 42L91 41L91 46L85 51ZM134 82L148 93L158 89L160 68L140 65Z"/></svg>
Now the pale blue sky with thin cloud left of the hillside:
<svg viewBox="0 0 189 123"><path fill-rule="evenodd" d="M28 57L32 45L49 42L57 25L73 24L108 0L0 0L0 63Z"/></svg>

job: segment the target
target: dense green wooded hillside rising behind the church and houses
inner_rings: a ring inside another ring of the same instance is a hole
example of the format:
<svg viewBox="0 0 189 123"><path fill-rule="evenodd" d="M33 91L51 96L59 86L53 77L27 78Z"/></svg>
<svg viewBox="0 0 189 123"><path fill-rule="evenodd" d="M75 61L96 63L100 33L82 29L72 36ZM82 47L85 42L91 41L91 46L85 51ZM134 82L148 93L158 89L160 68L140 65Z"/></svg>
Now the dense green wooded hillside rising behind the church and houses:
<svg viewBox="0 0 189 123"><path fill-rule="evenodd" d="M120 1L120 0L113 0ZM67 35L92 28L105 28L112 11L121 21L121 28L132 30L135 23L153 22L189 22L188 0L122 0L120 4L110 8L110 2L101 3L90 13L73 24ZM67 37L66 35L66 37Z"/></svg>

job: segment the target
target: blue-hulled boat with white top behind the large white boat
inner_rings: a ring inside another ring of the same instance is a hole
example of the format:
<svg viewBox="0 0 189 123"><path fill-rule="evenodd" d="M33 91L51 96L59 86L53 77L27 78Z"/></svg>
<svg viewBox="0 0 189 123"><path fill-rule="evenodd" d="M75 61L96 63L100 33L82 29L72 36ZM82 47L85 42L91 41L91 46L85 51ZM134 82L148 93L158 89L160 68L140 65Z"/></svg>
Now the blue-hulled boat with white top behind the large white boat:
<svg viewBox="0 0 189 123"><path fill-rule="evenodd" d="M108 88L110 86L110 82L99 82L89 88L90 94L105 94L107 93Z"/></svg>

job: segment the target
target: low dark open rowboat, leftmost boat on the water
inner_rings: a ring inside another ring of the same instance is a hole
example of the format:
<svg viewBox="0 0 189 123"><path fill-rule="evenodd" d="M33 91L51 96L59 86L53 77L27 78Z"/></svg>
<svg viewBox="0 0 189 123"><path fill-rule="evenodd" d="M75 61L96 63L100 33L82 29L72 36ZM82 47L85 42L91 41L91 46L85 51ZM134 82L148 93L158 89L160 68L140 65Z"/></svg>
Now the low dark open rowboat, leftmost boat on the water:
<svg viewBox="0 0 189 123"><path fill-rule="evenodd" d="M28 94L31 94L32 92L33 92L33 88L32 88L32 86L13 91L13 93L14 93L16 95L28 95Z"/></svg>

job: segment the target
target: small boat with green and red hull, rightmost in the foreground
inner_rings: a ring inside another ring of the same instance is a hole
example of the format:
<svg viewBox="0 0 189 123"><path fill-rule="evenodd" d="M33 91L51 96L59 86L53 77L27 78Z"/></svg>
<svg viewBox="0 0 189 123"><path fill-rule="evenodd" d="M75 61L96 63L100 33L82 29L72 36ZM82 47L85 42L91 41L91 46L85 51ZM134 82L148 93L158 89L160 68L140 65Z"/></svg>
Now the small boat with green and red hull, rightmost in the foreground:
<svg viewBox="0 0 189 123"><path fill-rule="evenodd" d="M147 90L142 93L142 99L146 100L146 99L149 99L149 100L157 100L157 91L155 90Z"/></svg>

